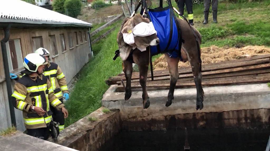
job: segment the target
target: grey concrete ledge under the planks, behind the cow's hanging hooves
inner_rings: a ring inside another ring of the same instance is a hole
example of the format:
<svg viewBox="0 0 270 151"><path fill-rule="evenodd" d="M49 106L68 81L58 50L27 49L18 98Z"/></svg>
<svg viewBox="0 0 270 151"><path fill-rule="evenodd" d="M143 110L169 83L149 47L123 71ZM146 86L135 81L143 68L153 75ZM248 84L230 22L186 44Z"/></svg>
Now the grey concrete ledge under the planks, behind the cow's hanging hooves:
<svg viewBox="0 0 270 151"><path fill-rule="evenodd" d="M115 86L112 86L113 88ZM114 92L112 89L103 95L102 105L110 109L120 109L122 120L185 113L270 109L270 88L267 84L204 87L204 108L198 111L195 109L195 88L176 89L173 104L169 107L165 106L168 90L148 91L148 109L143 109L141 91L133 91L131 98L125 101L124 92Z"/></svg>

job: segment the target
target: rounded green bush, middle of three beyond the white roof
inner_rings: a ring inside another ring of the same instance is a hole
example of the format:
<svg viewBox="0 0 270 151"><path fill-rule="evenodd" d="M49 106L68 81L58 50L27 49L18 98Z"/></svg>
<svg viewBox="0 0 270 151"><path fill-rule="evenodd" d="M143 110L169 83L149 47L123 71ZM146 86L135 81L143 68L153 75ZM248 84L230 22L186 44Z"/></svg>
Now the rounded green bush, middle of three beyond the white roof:
<svg viewBox="0 0 270 151"><path fill-rule="evenodd" d="M82 10L82 2L80 0L66 0L64 7L68 16L77 18Z"/></svg>

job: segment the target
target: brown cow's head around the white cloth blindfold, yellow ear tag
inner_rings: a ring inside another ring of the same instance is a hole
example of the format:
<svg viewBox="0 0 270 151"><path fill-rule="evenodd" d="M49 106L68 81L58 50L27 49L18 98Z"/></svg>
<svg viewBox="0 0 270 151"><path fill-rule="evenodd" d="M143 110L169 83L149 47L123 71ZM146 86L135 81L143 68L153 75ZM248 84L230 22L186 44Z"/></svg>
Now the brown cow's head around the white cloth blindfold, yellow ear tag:
<svg viewBox="0 0 270 151"><path fill-rule="evenodd" d="M134 17L126 18L122 23L122 26L117 34L117 42L119 45L120 57L122 60L127 59L132 48L145 48L159 44L159 39L156 34L152 34L146 37L136 36L134 37L134 44L129 45L124 42L123 34L130 33L130 31L132 31L133 28L141 22L149 23L150 21L147 18L143 18L141 15L135 15Z"/></svg>

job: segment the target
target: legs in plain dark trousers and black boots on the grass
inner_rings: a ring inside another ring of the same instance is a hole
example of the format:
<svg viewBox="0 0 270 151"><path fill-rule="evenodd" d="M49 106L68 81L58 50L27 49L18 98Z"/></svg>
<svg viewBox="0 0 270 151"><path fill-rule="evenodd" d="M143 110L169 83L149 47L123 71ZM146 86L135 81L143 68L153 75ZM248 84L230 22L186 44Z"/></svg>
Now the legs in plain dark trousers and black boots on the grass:
<svg viewBox="0 0 270 151"><path fill-rule="evenodd" d="M203 24L208 23L208 15L210 8L211 0L204 0L204 22ZM217 23L218 16L218 0L212 0L212 10L213 10L213 22Z"/></svg>

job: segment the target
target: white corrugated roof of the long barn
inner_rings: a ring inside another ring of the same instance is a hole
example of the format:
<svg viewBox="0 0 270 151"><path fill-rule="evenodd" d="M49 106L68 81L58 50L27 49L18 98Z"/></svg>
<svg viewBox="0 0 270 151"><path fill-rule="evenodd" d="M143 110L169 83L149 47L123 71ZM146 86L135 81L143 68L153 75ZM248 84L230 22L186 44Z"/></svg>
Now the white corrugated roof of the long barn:
<svg viewBox="0 0 270 151"><path fill-rule="evenodd" d="M0 23L92 27L92 24L20 0L0 0Z"/></svg>

